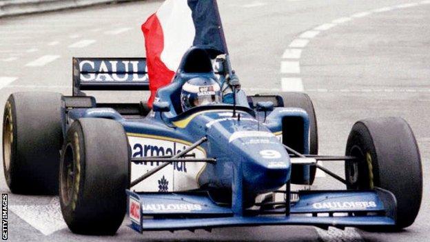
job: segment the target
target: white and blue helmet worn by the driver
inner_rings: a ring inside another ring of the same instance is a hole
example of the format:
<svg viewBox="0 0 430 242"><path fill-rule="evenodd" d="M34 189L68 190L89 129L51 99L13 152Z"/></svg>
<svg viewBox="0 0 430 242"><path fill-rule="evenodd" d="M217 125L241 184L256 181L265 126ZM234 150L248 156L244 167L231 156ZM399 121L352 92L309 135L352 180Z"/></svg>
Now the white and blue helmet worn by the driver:
<svg viewBox="0 0 430 242"><path fill-rule="evenodd" d="M183 111L196 106L215 103L221 103L221 88L214 79L194 77L182 86L181 104Z"/></svg>

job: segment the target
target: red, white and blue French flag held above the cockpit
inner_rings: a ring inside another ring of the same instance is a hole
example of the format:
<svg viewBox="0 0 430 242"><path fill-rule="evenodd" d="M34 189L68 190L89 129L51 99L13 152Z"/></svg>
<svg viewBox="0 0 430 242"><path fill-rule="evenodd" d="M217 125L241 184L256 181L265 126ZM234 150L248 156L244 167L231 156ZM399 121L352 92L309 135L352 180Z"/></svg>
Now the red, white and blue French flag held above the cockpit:
<svg viewBox="0 0 430 242"><path fill-rule="evenodd" d="M166 0L142 25L152 102L158 88L172 81L183 54L192 46L213 57L227 54L216 0Z"/></svg>

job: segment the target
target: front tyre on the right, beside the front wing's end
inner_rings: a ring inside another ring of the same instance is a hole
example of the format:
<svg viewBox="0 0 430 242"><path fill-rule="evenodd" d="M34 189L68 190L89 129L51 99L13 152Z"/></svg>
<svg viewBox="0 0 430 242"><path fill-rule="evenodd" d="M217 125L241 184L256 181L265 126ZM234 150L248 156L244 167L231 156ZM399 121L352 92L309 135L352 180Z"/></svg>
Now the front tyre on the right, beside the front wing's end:
<svg viewBox="0 0 430 242"><path fill-rule="evenodd" d="M358 121L349 133L346 155L358 157L345 162L347 188L389 190L397 199L394 229L411 225L420 210L422 168L408 123L397 117Z"/></svg>

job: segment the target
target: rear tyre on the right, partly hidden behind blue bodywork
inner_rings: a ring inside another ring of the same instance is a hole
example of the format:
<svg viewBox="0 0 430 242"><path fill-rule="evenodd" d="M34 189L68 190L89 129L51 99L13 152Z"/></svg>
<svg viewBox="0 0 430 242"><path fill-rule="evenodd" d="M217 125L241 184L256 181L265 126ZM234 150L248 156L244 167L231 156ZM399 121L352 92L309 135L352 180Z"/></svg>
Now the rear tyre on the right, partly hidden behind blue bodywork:
<svg viewBox="0 0 430 242"><path fill-rule="evenodd" d="M318 125L311 98L303 92L281 92L278 95L283 99L284 108L301 108L307 112L309 117L309 154L318 154ZM291 144L287 145L290 146ZM291 146L294 147L294 144ZM316 166L311 165L309 169L309 185L311 185L315 180ZM307 185L307 181L303 181L303 165L294 165L291 170L293 171L291 172L291 183Z"/></svg>

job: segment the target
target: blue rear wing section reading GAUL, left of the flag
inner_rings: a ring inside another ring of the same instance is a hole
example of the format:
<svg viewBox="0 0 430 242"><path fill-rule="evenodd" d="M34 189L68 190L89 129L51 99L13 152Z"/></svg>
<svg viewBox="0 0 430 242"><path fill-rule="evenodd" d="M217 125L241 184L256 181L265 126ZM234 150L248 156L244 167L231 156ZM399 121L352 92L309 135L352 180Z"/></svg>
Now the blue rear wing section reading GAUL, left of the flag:
<svg viewBox="0 0 430 242"><path fill-rule="evenodd" d="M73 58L73 96L83 90L150 90L146 58Z"/></svg>

